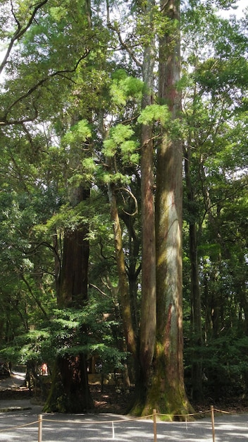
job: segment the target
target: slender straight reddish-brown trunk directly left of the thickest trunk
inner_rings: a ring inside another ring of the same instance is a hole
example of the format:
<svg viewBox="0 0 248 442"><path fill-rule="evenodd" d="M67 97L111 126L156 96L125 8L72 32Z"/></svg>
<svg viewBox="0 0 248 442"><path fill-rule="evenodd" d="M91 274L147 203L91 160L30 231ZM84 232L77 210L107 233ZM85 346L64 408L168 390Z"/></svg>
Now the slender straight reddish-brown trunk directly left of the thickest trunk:
<svg viewBox="0 0 248 442"><path fill-rule="evenodd" d="M147 16L152 25L154 1L147 2ZM152 104L154 88L155 42L151 38L144 48L142 66L144 95L142 108ZM156 338L156 248L154 208L154 143L153 125L142 125L141 201L142 201L142 310L140 324L140 366L143 388L146 388L154 357Z"/></svg>

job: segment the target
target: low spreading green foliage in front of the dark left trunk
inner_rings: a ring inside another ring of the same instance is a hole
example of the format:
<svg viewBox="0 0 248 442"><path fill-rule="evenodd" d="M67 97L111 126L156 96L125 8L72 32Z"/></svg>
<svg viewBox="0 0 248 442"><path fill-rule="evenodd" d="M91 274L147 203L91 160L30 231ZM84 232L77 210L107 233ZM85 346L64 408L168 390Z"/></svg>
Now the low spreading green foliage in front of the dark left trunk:
<svg viewBox="0 0 248 442"><path fill-rule="evenodd" d="M13 363L46 361L52 366L56 355L85 353L88 358L97 355L113 370L123 366L127 357L126 352L118 350L121 341L111 299L92 298L83 310L54 309L49 322L16 336L0 354Z"/></svg>

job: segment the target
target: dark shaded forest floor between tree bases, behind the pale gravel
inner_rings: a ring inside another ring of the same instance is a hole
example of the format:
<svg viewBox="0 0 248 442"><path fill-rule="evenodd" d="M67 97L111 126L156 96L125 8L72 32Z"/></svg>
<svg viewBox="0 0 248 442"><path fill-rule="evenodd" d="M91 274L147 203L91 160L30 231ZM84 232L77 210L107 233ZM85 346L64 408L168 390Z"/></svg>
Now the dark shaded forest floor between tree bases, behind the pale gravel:
<svg viewBox="0 0 248 442"><path fill-rule="evenodd" d="M101 391L99 384L90 385L92 398L94 400L94 407L96 413L113 413L126 414L128 407L134 398L134 391L130 389L130 393L118 393L114 386L104 385L104 390ZM0 378L0 400L21 400L31 398L34 403L42 405L39 390L32 391L23 386L23 380L16 380L14 375L11 378ZM210 410L211 405L217 410L227 411L231 413L247 413L248 399L228 398L223 400L213 400L211 398L202 402L192 402L192 406L196 412L205 412Z"/></svg>

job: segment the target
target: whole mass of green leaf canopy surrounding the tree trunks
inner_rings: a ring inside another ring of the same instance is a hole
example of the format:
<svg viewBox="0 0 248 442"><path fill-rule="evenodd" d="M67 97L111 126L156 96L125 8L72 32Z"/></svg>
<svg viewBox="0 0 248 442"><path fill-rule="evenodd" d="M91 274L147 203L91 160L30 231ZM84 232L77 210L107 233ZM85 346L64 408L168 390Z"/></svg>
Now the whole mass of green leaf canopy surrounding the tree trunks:
<svg viewBox="0 0 248 442"><path fill-rule="evenodd" d="M133 313L140 318L140 132L142 124L151 125L152 139L166 129L183 140L189 153L192 189L187 183L184 189L186 363L199 358L209 383L218 386L225 378L225 384L242 384L244 390L247 29L246 19L240 23L216 14L216 7L231 4L235 2L191 0L182 5L182 119L173 123L168 107L157 104L157 71L149 91L154 104L142 109L147 92L141 80L144 47L153 45L154 37L156 42L173 37L178 27L158 6L125 3L118 10L120 23L115 18L106 26L103 4L93 2L88 11L84 1L46 3L11 48L0 103L0 344L6 359L52 363L57 354L86 352L115 366L125 361L125 352L118 350L125 346L107 187L116 184L126 272L138 307ZM1 1L5 48L36 6L21 0L11 4L11 13L10 2ZM152 49L158 66L161 54ZM155 141L155 173L156 148ZM91 195L73 205L72 193L79 186L91 189ZM126 193L120 189L125 186ZM139 210L131 217L134 201ZM89 231L89 286L94 285L89 292L102 298L91 297L82 310L56 310L64 235L80 225ZM193 345L190 323L192 225L202 292L202 347Z"/></svg>

